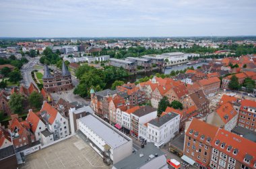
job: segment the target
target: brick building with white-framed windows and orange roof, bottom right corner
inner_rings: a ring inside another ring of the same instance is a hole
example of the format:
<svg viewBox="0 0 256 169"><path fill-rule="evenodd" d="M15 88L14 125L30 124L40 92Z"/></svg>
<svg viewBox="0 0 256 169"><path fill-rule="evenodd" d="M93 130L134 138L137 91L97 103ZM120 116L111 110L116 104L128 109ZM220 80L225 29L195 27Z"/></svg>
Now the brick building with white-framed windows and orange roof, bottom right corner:
<svg viewBox="0 0 256 169"><path fill-rule="evenodd" d="M255 148L255 142L219 129L212 142L210 168L256 168Z"/></svg>

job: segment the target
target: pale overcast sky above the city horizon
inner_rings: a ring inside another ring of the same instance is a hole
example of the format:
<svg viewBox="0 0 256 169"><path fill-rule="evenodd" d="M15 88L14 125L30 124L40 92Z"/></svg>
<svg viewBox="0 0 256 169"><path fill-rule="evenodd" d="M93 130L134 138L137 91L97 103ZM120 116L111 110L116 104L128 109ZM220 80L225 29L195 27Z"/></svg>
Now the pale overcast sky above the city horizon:
<svg viewBox="0 0 256 169"><path fill-rule="evenodd" d="M0 37L251 35L255 0L0 0Z"/></svg>

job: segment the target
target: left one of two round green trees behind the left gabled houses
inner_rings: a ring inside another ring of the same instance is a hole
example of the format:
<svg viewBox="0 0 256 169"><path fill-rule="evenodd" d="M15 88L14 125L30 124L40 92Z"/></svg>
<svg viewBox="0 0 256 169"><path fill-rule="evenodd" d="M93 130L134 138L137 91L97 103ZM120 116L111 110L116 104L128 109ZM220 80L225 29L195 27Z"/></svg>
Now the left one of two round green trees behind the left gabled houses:
<svg viewBox="0 0 256 169"><path fill-rule="evenodd" d="M24 105L24 97L20 94L13 93L10 96L10 100L8 105L13 113L22 114L23 112L23 105Z"/></svg>

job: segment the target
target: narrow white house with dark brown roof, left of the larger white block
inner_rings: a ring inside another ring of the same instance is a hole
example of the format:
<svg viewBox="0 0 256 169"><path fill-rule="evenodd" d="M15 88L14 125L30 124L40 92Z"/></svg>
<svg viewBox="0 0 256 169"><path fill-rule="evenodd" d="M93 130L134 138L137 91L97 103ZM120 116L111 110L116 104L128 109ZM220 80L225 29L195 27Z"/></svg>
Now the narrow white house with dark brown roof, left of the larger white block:
<svg viewBox="0 0 256 169"><path fill-rule="evenodd" d="M135 137L143 137L146 133L143 133L143 125L148 121L155 119L157 115L156 109L148 105L139 107L131 113L131 134ZM145 137L143 137L146 139Z"/></svg>

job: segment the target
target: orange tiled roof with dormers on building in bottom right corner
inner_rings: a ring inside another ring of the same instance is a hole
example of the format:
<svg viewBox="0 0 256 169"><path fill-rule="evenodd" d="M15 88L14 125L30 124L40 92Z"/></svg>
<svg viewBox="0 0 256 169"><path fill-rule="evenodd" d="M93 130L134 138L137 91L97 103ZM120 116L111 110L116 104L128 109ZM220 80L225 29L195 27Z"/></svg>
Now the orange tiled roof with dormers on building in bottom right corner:
<svg viewBox="0 0 256 169"><path fill-rule="evenodd" d="M218 145L215 144L217 140L220 141ZM222 143L225 144L224 148L220 147ZM228 152L227 150L228 146L231 146L230 152ZM229 131L226 131L224 129L219 129L216 133L216 136L214 137L212 147L216 148L220 152L223 152L227 156L230 156L231 158L234 158L235 160L246 164L246 166L250 166L250 168L253 168L253 165L255 164L256 143L251 142L249 139L245 139L240 135L230 133ZM238 153L236 155L233 154L235 149L238 150ZM244 162L246 155L252 156L250 164Z"/></svg>

